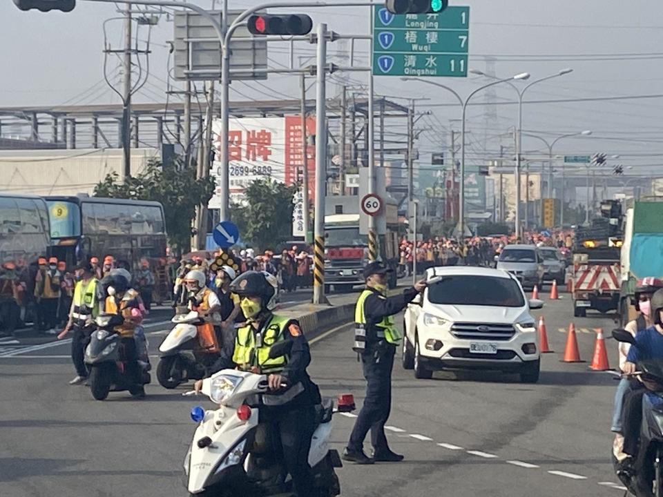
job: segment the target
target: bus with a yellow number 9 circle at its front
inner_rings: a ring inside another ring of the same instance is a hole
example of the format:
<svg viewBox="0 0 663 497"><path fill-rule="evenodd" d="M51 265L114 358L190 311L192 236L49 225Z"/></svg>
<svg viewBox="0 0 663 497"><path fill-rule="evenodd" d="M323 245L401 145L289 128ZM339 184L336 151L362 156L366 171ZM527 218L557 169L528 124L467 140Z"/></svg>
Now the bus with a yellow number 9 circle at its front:
<svg viewBox="0 0 663 497"><path fill-rule="evenodd" d="M142 258L164 264L166 221L159 202L88 197L45 197L51 254L68 266L106 255L137 269Z"/></svg>

